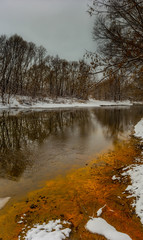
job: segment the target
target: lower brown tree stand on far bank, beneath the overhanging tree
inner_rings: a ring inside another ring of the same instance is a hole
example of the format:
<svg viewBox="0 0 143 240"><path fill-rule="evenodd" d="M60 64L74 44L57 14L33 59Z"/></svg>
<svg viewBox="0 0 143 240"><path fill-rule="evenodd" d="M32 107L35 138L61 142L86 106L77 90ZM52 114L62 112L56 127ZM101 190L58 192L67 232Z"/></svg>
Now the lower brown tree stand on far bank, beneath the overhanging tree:
<svg viewBox="0 0 143 240"><path fill-rule="evenodd" d="M142 78L136 80L136 76L131 80L125 74L106 73L105 77L92 85L92 97L99 100L108 101L142 101L143 81Z"/></svg>

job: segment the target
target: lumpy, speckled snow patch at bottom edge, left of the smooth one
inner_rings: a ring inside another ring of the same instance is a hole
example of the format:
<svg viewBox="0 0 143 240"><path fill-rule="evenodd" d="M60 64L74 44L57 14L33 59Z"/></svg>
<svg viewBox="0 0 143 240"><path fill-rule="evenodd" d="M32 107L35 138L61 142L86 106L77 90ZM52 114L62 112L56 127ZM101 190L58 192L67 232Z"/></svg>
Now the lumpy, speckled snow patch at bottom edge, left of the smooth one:
<svg viewBox="0 0 143 240"><path fill-rule="evenodd" d="M42 225L37 224L32 229L30 229L26 236L25 240L62 240L69 237L71 229L64 228L63 225L70 224L66 221L51 220L47 224L43 223ZM19 237L19 239L21 239Z"/></svg>

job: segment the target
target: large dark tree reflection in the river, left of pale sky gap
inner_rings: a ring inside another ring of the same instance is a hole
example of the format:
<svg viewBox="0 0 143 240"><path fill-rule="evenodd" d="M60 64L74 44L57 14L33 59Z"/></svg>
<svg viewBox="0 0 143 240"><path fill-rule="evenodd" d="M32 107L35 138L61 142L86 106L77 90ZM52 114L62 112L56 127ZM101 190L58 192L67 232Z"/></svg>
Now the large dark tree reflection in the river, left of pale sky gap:
<svg viewBox="0 0 143 240"><path fill-rule="evenodd" d="M89 111L3 112L0 117L0 176L16 179L31 164L30 153L49 136L69 138L69 130L86 137L92 126Z"/></svg>

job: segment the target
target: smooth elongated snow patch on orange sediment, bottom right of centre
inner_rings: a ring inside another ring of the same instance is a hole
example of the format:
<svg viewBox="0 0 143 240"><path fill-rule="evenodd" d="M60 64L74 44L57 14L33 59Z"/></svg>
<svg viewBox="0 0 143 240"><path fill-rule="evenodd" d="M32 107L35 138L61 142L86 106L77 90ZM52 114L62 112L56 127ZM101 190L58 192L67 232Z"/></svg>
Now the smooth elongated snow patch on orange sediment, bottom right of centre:
<svg viewBox="0 0 143 240"><path fill-rule="evenodd" d="M108 240L132 240L127 234L118 232L113 226L100 217L90 219L85 228L91 233L104 236Z"/></svg>

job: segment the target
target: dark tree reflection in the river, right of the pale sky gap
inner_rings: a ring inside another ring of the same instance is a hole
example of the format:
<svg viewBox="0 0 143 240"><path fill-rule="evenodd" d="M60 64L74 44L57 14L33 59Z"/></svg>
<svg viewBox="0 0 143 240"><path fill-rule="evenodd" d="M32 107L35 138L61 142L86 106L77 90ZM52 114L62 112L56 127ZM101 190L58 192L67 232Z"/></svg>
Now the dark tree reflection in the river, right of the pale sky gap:
<svg viewBox="0 0 143 240"><path fill-rule="evenodd" d="M132 126L142 118L143 108L106 107L96 109L94 114L102 126L104 136L116 142L122 133L130 131Z"/></svg>

